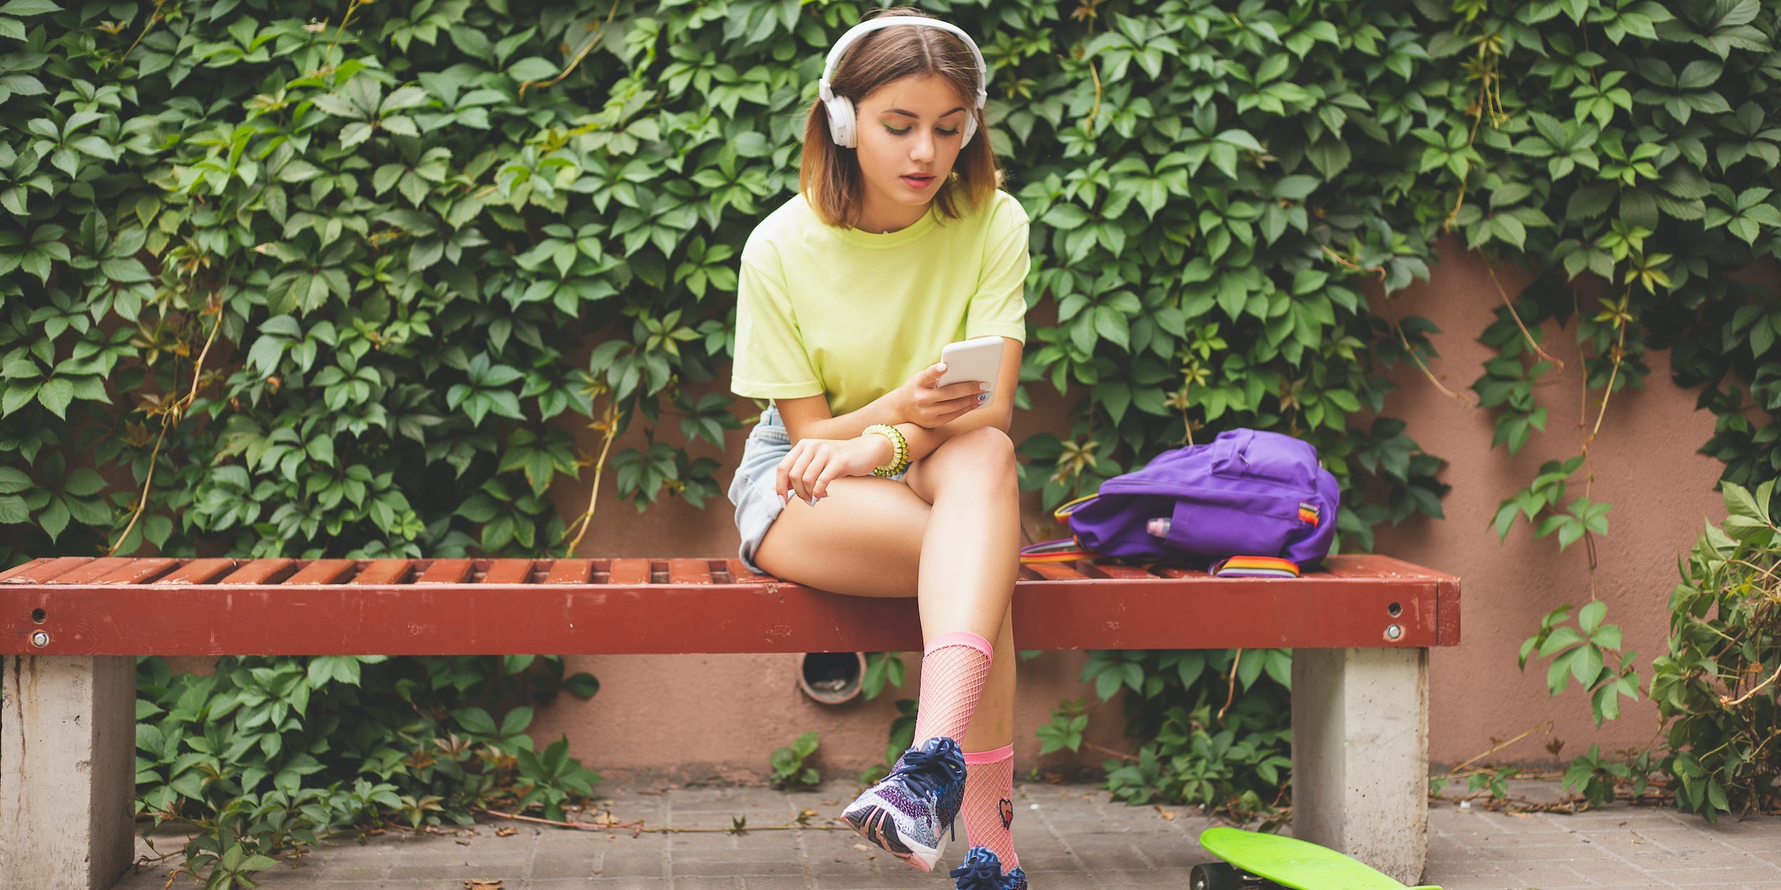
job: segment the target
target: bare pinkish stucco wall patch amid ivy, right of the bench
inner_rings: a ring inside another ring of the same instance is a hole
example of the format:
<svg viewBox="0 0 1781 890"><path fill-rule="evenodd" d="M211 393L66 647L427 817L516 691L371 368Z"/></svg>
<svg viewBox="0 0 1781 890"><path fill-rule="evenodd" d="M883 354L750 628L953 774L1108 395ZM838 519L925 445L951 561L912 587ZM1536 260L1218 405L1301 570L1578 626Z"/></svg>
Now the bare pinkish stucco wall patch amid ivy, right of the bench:
<svg viewBox="0 0 1781 890"><path fill-rule="evenodd" d="M1510 295L1526 274L1498 267ZM1585 304L1592 304L1589 299ZM1492 320L1501 295L1484 260L1457 249L1441 251L1441 265L1427 285L1375 308L1391 317L1423 315L1441 328L1434 338L1441 358L1430 370L1455 392L1466 392L1492 352L1476 335ZM1549 733L1537 733L1492 760L1551 762L1544 746L1564 740L1560 758L1582 755L1590 744L1603 751L1642 748L1656 728L1649 701L1624 708L1619 721L1596 728L1587 698L1567 689L1557 700L1546 694L1546 669L1516 669L1521 641L1539 628L1548 611L1590 598L1589 557L1583 543L1558 552L1557 536L1535 539L1523 522L1498 543L1491 520L1496 506L1526 486L1549 459L1574 456L1587 436L1582 425L1582 370L1576 361L1574 326L1548 326L1544 347L1565 361L1562 374L1537 390L1548 406L1546 433L1535 433L1514 457L1491 449L1492 415L1448 399L1414 368L1398 374L1403 388L1387 399L1387 411L1409 422L1407 434L1450 463L1441 473L1453 486L1443 507L1446 520L1405 523L1378 536L1378 550L1414 562L1437 566L1464 578L1464 643L1437 650L1430 659L1430 758L1457 764L1525 730L1553 721ZM1667 600L1676 586L1676 557L1701 532L1703 520L1726 514L1713 491L1722 465L1699 447L1713 434L1713 415L1696 411L1699 390L1671 383L1669 352L1649 356L1651 374L1644 390L1622 390L1608 402L1601 433L1590 445L1592 500L1614 504L1608 534L1598 538L1594 595L1608 603L1608 621L1624 630L1624 644L1642 653L1665 651ZM1466 392L1466 395L1471 395ZM1589 422L1594 424L1599 390L1590 393ZM1582 475L1571 497L1583 491ZM1649 669L1642 669L1649 680Z"/></svg>

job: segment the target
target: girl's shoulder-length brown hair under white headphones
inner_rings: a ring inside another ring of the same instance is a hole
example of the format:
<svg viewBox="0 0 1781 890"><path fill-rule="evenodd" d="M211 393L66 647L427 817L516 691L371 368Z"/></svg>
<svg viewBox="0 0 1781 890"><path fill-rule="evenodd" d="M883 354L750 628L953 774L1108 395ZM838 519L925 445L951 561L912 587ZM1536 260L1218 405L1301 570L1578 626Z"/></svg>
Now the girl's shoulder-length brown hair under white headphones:
<svg viewBox="0 0 1781 890"><path fill-rule="evenodd" d="M882 16L926 16L921 11L896 7ZM867 18L882 18L867 16ZM835 66L830 85L837 96L846 96L855 109L873 91L915 75L939 75L965 98L978 119L971 144L958 151L953 176L940 183L933 205L947 219L958 219L964 210L983 203L1001 182L1001 167L990 148L988 121L983 109L971 101L978 94L978 61L956 36L940 28L898 27L860 37ZM803 125L803 162L798 166L798 190L830 226L855 228L866 203L866 183L860 178L858 151L837 146L828 135L828 109L817 98L810 103L810 117ZM964 201L960 201L960 198ZM965 206L962 208L960 203Z"/></svg>

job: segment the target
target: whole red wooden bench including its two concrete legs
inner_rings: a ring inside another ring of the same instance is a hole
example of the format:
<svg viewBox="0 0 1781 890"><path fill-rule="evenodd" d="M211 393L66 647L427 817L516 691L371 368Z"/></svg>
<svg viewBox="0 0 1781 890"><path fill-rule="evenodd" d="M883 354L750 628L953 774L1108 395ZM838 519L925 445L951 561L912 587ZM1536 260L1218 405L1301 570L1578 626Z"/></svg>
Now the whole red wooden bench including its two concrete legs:
<svg viewBox="0 0 1781 890"><path fill-rule="evenodd" d="M1293 831L1414 883L1428 648L1459 578L1336 557L1302 578L1022 568L1024 650L1293 648ZM915 651L914 600L734 559L87 559L0 573L0 886L109 888L132 858L135 655Z"/></svg>

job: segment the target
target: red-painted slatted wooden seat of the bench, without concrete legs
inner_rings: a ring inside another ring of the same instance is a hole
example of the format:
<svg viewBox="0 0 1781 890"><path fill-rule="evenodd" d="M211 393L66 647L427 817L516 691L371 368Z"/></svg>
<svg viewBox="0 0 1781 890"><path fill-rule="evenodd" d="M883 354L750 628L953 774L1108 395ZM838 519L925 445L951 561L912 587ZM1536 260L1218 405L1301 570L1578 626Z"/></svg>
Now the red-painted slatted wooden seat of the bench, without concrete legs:
<svg viewBox="0 0 1781 890"><path fill-rule="evenodd" d="M570 655L921 646L912 600L837 596L755 575L736 559L255 559L221 580L198 578L216 578L230 561L141 561L130 570L100 566L98 559L57 562L32 562L0 584L0 653ZM159 582L112 580L150 575L151 568L166 571ZM582 573L588 580L561 580ZM1022 575L1028 580L1015 589L1021 648L1459 643L1459 578L1389 557L1334 557L1327 571L1302 578L1213 578L1199 570L1147 571L1117 562L1038 562L1022 566ZM32 618L39 609L43 621ZM34 632L46 634L41 646L32 643Z"/></svg>

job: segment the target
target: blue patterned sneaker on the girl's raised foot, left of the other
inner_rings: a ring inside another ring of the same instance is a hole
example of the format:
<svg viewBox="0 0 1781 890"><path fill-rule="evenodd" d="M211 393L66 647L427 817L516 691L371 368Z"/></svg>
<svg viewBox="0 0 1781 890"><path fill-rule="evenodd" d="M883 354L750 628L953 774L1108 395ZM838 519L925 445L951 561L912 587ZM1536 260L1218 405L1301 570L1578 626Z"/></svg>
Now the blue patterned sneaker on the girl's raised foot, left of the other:
<svg viewBox="0 0 1781 890"><path fill-rule="evenodd" d="M931 872L964 799L965 755L958 742L939 735L903 751L890 774L866 789L841 817L866 840Z"/></svg>

